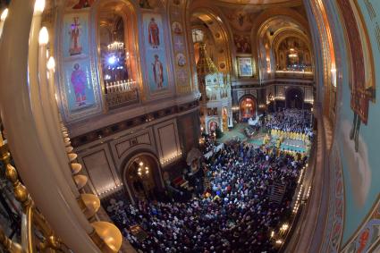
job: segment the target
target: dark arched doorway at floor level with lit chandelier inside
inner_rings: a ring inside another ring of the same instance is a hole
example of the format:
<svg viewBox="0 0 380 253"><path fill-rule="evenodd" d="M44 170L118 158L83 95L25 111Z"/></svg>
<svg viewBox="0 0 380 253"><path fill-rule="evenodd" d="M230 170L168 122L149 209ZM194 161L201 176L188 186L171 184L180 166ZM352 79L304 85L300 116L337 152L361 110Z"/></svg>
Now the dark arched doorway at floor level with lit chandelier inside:
<svg viewBox="0 0 380 253"><path fill-rule="evenodd" d="M140 153L129 159L123 181L132 201L159 198L157 194L164 190L159 170L160 165L153 154Z"/></svg>

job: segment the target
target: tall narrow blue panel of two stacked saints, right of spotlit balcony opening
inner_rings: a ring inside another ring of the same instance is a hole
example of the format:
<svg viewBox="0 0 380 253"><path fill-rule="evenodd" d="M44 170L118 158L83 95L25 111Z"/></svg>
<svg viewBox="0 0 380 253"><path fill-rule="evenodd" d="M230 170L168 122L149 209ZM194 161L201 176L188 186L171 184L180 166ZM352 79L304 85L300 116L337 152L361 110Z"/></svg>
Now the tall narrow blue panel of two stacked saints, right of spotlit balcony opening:
<svg viewBox="0 0 380 253"><path fill-rule="evenodd" d="M149 88L156 92L168 87L163 22L153 13L144 13L143 21Z"/></svg>

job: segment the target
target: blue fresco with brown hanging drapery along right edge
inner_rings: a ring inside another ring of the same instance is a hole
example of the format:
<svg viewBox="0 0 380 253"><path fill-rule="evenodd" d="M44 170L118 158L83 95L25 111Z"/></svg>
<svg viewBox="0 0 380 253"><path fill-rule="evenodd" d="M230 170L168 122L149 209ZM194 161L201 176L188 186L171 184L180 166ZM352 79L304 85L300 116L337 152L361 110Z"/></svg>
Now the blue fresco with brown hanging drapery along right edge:
<svg viewBox="0 0 380 253"><path fill-rule="evenodd" d="M355 68L355 72L348 72L348 66L345 65L347 72L343 75L342 100L338 101L341 116L337 129L340 130L344 191L347 198L345 201L343 246L353 237L358 236L358 230L364 227L363 222L372 212L380 192L378 184L380 178L380 170L378 169L380 164L380 156L378 156L380 135L376 133L380 128L378 118L380 105L375 100L375 80L380 79L378 76L380 73L380 51L376 37L376 23L380 22L380 2L369 0L339 0L337 2L343 20L349 25L349 28L346 29L346 36L350 42L347 50L350 50L351 60ZM369 9L368 4L371 4ZM360 13L354 12L351 6L358 7L356 11ZM363 27L359 27L357 24L357 22L360 24L362 21L360 16L364 17ZM368 48L367 42L370 42ZM364 50L360 50L360 48ZM367 50L370 54L365 53ZM370 60L372 59L368 60L368 55L373 55L374 63L371 63ZM376 78L368 75L371 72L372 65L377 68ZM352 83L345 79L350 75L353 77ZM363 247L358 246L356 249L365 252L366 248Z"/></svg>

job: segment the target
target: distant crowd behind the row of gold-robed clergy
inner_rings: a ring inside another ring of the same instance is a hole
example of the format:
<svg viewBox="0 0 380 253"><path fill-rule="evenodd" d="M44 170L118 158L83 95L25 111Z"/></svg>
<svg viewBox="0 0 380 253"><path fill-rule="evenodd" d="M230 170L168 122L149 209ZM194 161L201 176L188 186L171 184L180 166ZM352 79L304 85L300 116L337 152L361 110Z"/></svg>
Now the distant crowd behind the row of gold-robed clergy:
<svg viewBox="0 0 380 253"><path fill-rule="evenodd" d="M309 110L283 109L274 114L268 114L266 129L304 133L311 137L313 130L310 120Z"/></svg>

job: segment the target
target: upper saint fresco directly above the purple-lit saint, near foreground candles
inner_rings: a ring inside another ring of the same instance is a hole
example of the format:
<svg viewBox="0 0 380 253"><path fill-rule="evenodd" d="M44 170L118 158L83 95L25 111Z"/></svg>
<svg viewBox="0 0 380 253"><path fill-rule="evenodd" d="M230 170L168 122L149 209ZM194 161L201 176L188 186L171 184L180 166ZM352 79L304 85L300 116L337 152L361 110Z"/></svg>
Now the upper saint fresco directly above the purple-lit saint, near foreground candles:
<svg viewBox="0 0 380 253"><path fill-rule="evenodd" d="M63 17L63 57L89 55L89 13Z"/></svg>

